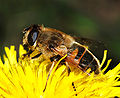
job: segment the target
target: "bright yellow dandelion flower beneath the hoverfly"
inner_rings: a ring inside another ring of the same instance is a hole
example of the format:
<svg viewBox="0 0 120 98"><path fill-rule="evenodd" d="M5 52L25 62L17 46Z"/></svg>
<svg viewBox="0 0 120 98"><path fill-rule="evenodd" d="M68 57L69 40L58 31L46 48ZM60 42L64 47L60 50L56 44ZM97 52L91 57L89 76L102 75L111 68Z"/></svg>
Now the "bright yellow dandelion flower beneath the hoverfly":
<svg viewBox="0 0 120 98"><path fill-rule="evenodd" d="M70 72L68 76L65 65L57 67L64 56L54 66L47 81L51 66L50 60L27 58L17 62L14 46L11 46L10 49L5 47L5 51L4 62L0 59L0 97L2 98L120 97L120 87L117 87L120 86L120 81L118 81L120 64L103 74L111 60L99 75L94 73L87 75L80 71L79 74ZM20 45L19 56L21 57L25 52ZM106 51L101 66L105 59Z"/></svg>

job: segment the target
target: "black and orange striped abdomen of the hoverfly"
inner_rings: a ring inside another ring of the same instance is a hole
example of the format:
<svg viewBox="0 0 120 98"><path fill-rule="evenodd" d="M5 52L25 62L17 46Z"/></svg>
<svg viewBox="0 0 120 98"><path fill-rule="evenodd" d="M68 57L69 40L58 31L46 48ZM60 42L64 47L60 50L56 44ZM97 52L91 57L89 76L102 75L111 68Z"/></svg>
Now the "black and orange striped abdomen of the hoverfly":
<svg viewBox="0 0 120 98"><path fill-rule="evenodd" d="M98 59L86 47L79 43L73 44L66 59L83 71L91 68L91 72L94 71L95 74L99 74L100 63Z"/></svg>

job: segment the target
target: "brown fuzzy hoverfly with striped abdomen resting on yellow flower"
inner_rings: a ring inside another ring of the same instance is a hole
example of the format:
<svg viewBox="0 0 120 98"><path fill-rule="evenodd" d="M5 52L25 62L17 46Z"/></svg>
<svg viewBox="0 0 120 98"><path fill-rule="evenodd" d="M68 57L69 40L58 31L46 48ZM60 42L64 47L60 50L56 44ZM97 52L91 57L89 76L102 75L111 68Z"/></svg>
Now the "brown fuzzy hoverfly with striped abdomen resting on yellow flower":
<svg viewBox="0 0 120 98"><path fill-rule="evenodd" d="M35 57L42 54L45 59L50 58L54 62L67 54L63 61L69 69L69 66L75 66L86 72L90 68L91 72L99 74L99 60L85 45L77 42L72 36L43 25L32 25L24 29L23 33L23 46L28 48L28 53L25 55L38 51L39 54Z"/></svg>

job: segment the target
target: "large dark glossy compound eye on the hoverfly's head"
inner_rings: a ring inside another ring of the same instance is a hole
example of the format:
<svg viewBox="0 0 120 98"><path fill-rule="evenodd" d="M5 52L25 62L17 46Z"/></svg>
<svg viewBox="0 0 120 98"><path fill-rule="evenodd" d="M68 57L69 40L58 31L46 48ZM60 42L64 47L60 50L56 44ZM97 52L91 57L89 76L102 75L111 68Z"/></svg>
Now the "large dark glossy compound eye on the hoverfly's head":
<svg viewBox="0 0 120 98"><path fill-rule="evenodd" d="M34 45L36 39L38 36L38 32L30 32L30 34L28 35L28 43L29 45Z"/></svg>

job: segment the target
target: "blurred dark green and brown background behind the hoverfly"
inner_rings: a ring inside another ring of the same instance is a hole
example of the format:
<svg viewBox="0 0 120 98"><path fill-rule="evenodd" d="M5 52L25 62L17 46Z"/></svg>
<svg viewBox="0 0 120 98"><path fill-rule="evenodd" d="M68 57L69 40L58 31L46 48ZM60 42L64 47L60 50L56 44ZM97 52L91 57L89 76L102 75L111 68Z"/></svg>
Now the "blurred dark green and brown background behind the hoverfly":
<svg viewBox="0 0 120 98"><path fill-rule="evenodd" d="M22 30L44 24L67 34L103 41L120 57L120 0L0 0L0 54L22 43Z"/></svg>

